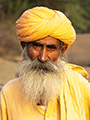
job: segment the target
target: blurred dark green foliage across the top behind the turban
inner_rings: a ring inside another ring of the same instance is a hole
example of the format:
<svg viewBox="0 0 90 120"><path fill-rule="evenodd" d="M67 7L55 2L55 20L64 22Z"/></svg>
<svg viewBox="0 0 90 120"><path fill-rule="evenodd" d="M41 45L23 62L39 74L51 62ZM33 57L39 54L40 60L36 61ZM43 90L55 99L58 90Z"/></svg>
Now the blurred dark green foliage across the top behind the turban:
<svg viewBox="0 0 90 120"><path fill-rule="evenodd" d="M90 0L0 0L0 18L15 22L34 6L60 10L72 21L77 33L90 32Z"/></svg>

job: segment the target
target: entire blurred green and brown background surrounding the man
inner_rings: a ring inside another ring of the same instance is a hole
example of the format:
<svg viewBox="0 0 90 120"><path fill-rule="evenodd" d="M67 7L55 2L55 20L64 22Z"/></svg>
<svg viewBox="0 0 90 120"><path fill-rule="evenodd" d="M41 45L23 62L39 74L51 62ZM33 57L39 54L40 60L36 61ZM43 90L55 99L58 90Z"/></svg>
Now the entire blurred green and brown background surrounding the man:
<svg viewBox="0 0 90 120"><path fill-rule="evenodd" d="M35 6L60 10L71 20L77 38L64 57L67 62L83 66L90 74L90 0L0 0L0 85L16 77L21 59L15 21Z"/></svg>

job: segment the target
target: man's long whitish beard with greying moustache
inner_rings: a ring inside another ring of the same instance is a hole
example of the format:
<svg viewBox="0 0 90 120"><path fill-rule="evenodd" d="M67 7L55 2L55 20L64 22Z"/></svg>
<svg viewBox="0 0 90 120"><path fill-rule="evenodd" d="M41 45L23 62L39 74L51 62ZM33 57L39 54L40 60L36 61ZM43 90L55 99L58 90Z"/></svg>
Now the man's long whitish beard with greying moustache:
<svg viewBox="0 0 90 120"><path fill-rule="evenodd" d="M53 96L58 98L61 73L64 72L61 60L59 59L55 64L50 61L40 63L38 59L32 62L27 55L26 48L22 52L22 57L23 60L18 66L22 91L27 100L48 105Z"/></svg>

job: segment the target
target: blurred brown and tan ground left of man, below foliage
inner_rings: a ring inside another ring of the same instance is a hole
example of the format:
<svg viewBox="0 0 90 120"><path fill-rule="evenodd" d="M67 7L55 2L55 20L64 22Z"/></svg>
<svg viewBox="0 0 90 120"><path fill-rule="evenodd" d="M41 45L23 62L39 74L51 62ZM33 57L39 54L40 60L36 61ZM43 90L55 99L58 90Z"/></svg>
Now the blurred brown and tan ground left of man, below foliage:
<svg viewBox="0 0 90 120"><path fill-rule="evenodd" d="M12 23L0 24L0 84L15 78L21 47Z"/></svg>

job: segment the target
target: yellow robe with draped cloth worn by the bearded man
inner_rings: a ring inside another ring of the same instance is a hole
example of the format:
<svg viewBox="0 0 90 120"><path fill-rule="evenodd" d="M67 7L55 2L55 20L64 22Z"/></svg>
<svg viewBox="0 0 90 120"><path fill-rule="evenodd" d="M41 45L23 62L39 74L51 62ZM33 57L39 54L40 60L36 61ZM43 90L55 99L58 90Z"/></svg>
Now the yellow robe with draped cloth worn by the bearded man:
<svg viewBox="0 0 90 120"><path fill-rule="evenodd" d="M60 99L54 97L46 112L26 101L19 78L9 81L0 95L0 120L90 120L90 83L82 77L86 71L80 67L80 75L77 67L68 64Z"/></svg>

